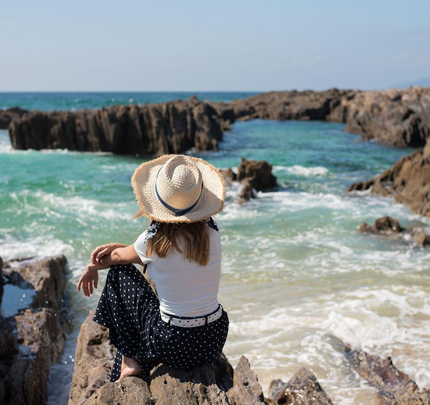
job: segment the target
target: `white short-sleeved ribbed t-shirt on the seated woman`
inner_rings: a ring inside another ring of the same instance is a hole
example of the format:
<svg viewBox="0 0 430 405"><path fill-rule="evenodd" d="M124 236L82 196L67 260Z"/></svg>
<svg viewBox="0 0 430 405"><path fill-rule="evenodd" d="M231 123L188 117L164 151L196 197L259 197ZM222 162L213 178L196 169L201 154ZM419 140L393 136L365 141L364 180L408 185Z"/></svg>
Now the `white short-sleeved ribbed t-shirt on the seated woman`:
<svg viewBox="0 0 430 405"><path fill-rule="evenodd" d="M148 263L149 277L154 281L160 311L177 316L203 316L218 308L221 279L221 236L208 226L210 257L206 266L190 262L185 253L170 249L165 258L146 256L147 230L134 242L142 263ZM181 242L180 242L181 243ZM182 244L180 244L182 248Z"/></svg>

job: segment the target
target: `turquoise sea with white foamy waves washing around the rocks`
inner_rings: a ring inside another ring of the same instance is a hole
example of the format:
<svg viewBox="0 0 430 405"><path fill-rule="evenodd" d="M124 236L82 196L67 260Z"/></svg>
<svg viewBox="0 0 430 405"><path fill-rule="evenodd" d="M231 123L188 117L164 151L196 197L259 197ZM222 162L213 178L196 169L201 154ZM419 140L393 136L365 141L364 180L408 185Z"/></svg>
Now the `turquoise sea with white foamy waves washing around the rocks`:
<svg viewBox="0 0 430 405"><path fill-rule="evenodd" d="M255 93L1 93L0 108L78 110L187 99L231 101ZM224 352L233 367L248 358L263 390L312 371L334 403L377 403L375 390L352 369L334 337L381 357L430 387L430 249L407 239L362 234L358 226L389 215L430 232L430 219L394 199L346 188L390 168L414 148L361 141L325 121L238 121L219 151L185 153L236 170L241 158L267 160L279 187L237 203L227 188L216 216L222 234L219 301L230 329ZM151 156L67 149L14 150L0 131L0 256L64 254L71 327L49 381L49 404L67 403L81 322L99 288L76 291L92 250L132 244L147 226L130 178Z"/></svg>

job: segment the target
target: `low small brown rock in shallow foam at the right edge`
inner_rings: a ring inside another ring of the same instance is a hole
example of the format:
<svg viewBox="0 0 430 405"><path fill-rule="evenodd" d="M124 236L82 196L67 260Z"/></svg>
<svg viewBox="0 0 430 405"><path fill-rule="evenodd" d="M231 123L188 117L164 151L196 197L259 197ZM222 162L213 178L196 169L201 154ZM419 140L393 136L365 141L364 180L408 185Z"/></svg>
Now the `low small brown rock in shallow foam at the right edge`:
<svg viewBox="0 0 430 405"><path fill-rule="evenodd" d="M430 246L430 235L427 235L420 228L403 228L399 221L392 217L382 217L376 219L372 225L363 222L358 230L365 233L378 235L389 235L396 238L412 239L418 246Z"/></svg>

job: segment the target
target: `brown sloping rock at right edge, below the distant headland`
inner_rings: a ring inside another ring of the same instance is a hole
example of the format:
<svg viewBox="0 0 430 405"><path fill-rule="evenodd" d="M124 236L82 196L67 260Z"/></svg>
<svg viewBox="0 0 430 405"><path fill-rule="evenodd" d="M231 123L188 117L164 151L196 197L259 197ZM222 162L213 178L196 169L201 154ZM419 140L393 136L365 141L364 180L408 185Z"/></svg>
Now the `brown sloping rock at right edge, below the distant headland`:
<svg viewBox="0 0 430 405"><path fill-rule="evenodd" d="M430 217L430 157L425 156L424 149L418 149L374 179L354 183L346 191L370 188L372 194L391 196L415 213Z"/></svg>

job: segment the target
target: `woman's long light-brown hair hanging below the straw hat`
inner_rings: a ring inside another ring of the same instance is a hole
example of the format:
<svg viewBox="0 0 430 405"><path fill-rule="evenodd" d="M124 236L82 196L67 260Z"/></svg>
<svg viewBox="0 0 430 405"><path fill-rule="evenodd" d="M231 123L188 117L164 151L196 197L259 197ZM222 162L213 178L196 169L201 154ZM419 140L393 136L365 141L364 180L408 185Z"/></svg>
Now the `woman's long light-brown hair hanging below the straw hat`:
<svg viewBox="0 0 430 405"><path fill-rule="evenodd" d="M134 217L142 215L139 211ZM181 243L182 241L182 243ZM160 222L157 232L146 242L146 255L156 253L159 257L166 257L170 249L176 249L180 253L185 252L185 257L197 262L200 266L209 263L209 231L204 221L169 223Z"/></svg>

